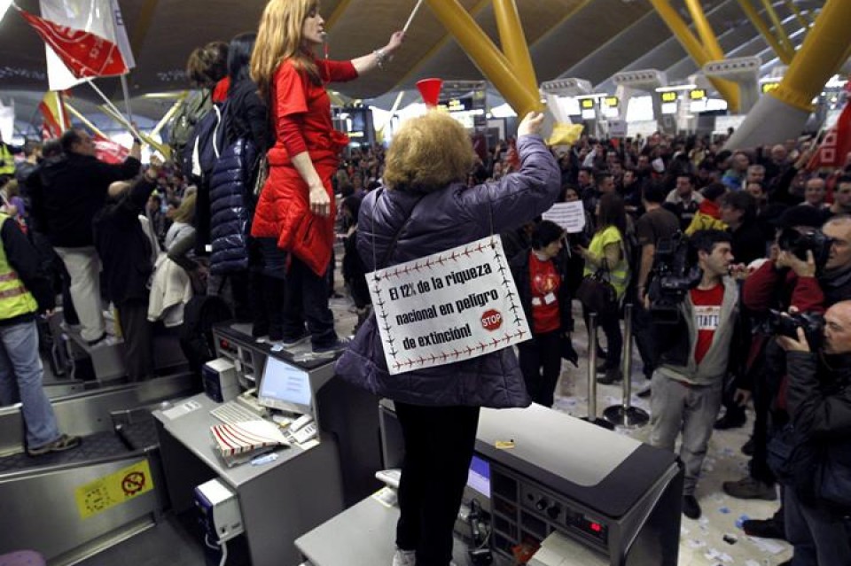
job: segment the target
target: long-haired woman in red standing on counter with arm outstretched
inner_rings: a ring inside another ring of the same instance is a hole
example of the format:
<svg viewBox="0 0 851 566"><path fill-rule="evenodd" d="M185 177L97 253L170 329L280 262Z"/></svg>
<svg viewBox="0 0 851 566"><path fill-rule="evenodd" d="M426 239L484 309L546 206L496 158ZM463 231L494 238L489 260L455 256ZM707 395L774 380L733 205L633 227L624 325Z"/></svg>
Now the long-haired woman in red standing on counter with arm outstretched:
<svg viewBox="0 0 851 566"><path fill-rule="evenodd" d="M339 352L328 308L325 273L334 243L332 174L348 138L334 130L325 85L352 81L383 67L402 44L395 32L382 48L351 61L316 58L324 41L324 19L316 0L270 0L251 59L251 78L269 102L275 145L269 178L254 214L252 236L274 238L288 254L284 305L285 346L310 338L319 354ZM307 322L307 329L305 329Z"/></svg>

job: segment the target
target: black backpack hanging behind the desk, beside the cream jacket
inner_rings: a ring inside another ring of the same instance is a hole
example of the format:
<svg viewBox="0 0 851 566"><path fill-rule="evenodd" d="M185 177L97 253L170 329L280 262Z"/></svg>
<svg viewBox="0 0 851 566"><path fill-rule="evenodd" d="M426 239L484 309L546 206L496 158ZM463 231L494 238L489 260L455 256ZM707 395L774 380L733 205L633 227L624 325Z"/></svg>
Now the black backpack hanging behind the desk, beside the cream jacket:
<svg viewBox="0 0 851 566"><path fill-rule="evenodd" d="M189 361L193 374L200 376L201 367L215 359L213 326L233 318L230 306L215 295L196 295L183 309L180 348Z"/></svg>

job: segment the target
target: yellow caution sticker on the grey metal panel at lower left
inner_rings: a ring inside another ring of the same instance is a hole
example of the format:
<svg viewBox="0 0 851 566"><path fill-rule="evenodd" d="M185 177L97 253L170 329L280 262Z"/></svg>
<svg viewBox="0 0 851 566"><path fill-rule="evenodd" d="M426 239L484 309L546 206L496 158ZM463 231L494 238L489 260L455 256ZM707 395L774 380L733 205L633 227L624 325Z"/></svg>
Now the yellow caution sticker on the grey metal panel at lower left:
<svg viewBox="0 0 851 566"><path fill-rule="evenodd" d="M88 519L152 489L151 468L148 461L143 460L81 485L74 490L74 500L80 517Z"/></svg>

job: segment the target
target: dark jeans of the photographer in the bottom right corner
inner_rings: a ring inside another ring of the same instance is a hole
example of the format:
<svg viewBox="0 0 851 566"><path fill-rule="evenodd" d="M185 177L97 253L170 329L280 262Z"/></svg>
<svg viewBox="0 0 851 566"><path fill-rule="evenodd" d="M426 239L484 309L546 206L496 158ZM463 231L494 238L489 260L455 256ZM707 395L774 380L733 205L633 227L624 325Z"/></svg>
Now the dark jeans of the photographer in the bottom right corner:
<svg viewBox="0 0 851 566"><path fill-rule="evenodd" d="M851 528L847 519L801 501L785 490L786 539L795 547L792 566L851 566Z"/></svg>

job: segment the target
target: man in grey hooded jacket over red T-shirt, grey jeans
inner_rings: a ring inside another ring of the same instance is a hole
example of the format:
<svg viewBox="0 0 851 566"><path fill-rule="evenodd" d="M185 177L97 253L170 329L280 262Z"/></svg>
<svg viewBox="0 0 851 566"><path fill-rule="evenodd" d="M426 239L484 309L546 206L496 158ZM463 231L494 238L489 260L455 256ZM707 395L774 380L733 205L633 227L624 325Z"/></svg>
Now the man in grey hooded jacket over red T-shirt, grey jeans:
<svg viewBox="0 0 851 566"><path fill-rule="evenodd" d="M695 498L700 467L707 454L724 380L736 344L738 285L730 277L730 235L700 230L691 236L702 272L698 285L685 293L675 323L654 323L660 367L653 373L651 409L653 446L674 451L683 431L680 458L685 466L683 514L699 518Z"/></svg>

